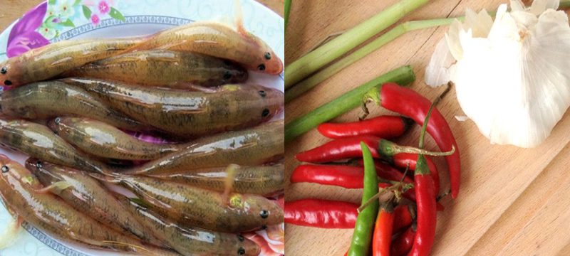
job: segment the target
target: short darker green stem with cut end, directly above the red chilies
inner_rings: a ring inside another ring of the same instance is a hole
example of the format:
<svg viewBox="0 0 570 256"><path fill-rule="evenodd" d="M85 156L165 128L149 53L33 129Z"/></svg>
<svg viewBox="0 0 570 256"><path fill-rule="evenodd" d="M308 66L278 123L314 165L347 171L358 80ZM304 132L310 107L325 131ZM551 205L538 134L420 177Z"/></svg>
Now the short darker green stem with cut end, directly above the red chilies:
<svg viewBox="0 0 570 256"><path fill-rule="evenodd" d="M285 142L290 142L301 134L309 132L318 124L338 117L362 104L362 98L373 87L383 85L385 82L395 82L398 85L408 85L415 80L412 67L405 65L381 75L374 80L346 92L331 102L317 107L302 117L285 124Z"/></svg>

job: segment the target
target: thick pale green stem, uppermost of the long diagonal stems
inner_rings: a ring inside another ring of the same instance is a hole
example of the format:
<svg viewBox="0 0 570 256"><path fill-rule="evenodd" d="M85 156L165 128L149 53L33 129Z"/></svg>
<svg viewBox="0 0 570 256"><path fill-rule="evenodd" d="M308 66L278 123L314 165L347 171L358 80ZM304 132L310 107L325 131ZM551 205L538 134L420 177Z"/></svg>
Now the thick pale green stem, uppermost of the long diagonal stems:
<svg viewBox="0 0 570 256"><path fill-rule="evenodd" d="M418 9L420 6L427 4L427 2L429 0L399 1L397 4L389 6L379 14L346 31L341 36L295 60L285 68L285 89L311 75L311 73L314 73L324 65L331 63L336 58L341 57L341 55L348 53L348 51L368 40L368 38L392 26L410 11Z"/></svg>

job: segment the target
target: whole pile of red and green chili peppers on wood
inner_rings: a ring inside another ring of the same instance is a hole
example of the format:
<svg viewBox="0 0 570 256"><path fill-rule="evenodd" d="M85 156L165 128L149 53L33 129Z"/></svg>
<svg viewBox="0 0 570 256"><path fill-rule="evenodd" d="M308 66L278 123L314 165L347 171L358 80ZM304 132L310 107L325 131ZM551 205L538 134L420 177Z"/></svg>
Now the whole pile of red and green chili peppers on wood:
<svg viewBox="0 0 570 256"><path fill-rule="evenodd" d="M386 83L368 92L365 100L403 117L319 125L318 132L333 140L296 154L296 159L311 164L298 166L291 183L363 188L361 206L314 198L289 201L285 203L285 222L354 228L348 255L429 255L436 212L443 206L437 203L437 167L427 155L445 156L452 198L457 197L460 187L459 150L449 124L434 107L442 95L432 104L409 88ZM402 136L414 122L423 126L419 148L388 141ZM445 153L423 149L425 132Z"/></svg>

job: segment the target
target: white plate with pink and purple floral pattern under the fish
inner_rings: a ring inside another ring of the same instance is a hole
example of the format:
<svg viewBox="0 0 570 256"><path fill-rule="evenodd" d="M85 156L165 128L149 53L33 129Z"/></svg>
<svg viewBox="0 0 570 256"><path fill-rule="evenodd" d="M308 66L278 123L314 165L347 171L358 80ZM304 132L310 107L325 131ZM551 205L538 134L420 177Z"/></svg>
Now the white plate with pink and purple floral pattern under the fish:
<svg viewBox="0 0 570 256"><path fill-rule="evenodd" d="M284 59L284 21L254 0L242 0L244 26ZM27 50L75 38L142 36L202 20L233 22L234 0L48 0L28 11L0 34L0 61ZM284 90L284 75L251 73L249 82ZM282 116L280 118L283 118ZM26 156L0 149L24 162ZM281 203L283 199L280 199ZM11 216L0 204L0 237ZM120 255L60 242L24 223L14 244L1 256ZM246 234L262 246L262 255L284 254L284 225ZM1 244L1 242L0 242Z"/></svg>

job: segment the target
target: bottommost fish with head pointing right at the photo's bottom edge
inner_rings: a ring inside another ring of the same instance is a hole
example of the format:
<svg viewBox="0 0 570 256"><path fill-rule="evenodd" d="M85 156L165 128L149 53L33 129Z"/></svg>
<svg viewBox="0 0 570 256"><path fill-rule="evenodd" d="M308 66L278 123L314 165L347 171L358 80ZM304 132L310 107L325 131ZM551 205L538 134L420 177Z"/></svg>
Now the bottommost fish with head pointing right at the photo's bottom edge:
<svg viewBox="0 0 570 256"><path fill-rule="evenodd" d="M202 228L182 227L150 210L140 200L118 196L119 201L140 223L160 240L184 256L194 255L252 255L259 246L242 235L221 233Z"/></svg>

